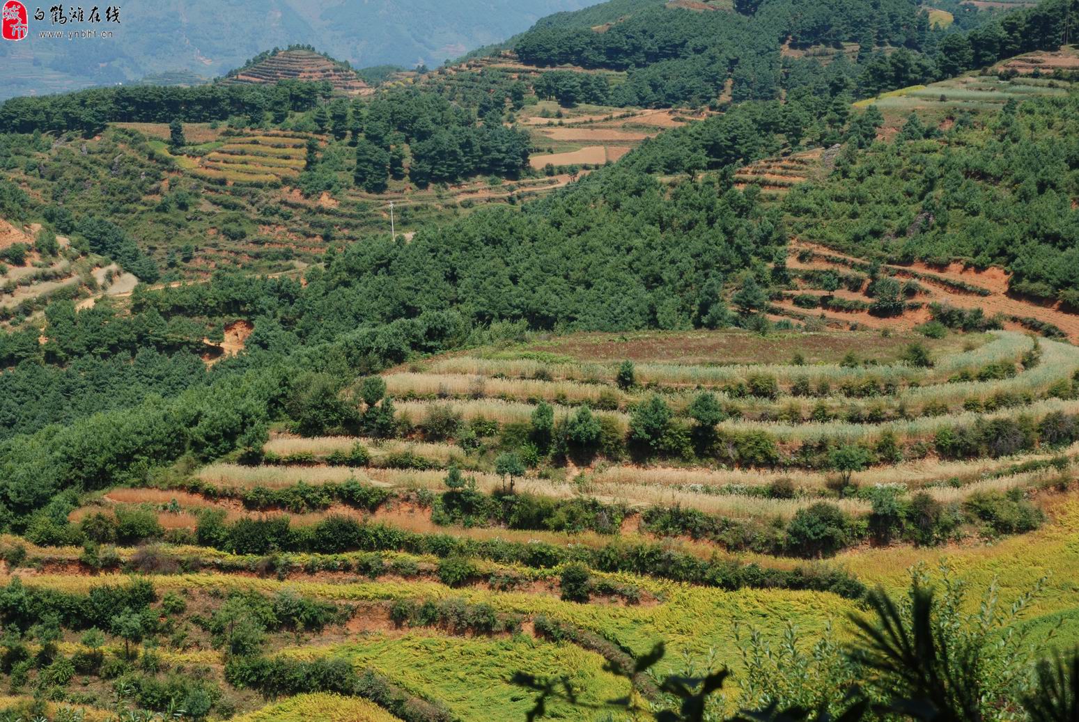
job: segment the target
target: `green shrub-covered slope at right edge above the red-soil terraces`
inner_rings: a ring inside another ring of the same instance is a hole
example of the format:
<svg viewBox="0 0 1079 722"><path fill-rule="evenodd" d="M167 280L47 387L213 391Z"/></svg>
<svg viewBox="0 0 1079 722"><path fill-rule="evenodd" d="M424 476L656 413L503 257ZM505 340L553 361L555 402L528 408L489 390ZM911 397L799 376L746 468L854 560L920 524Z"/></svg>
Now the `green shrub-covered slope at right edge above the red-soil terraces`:
<svg viewBox="0 0 1079 722"><path fill-rule="evenodd" d="M984 39L993 46L980 47L980 57L996 55L1001 35L1017 32L1016 28L1035 17L1053 22L1049 18L1064 4L1046 2L975 30L972 37L986 33ZM1001 26L1008 28L1002 33ZM1016 36L1020 44L1039 42L1048 28L1030 30L1029 38ZM1014 52L1010 49L1006 54ZM976 268L1002 265L1012 272L1013 291L1064 300L1079 284L1075 273L1079 235L1069 201L1077 181L1067 161L1074 154L1069 139L1076 135L1076 104L1074 95L1033 98L1013 112L1001 112L986 130L957 127L929 148L920 142L877 144L852 153L828 183L791 192L787 202L796 216L795 228L803 237L863 257L879 254L900 262L962 260ZM912 121L901 137L927 133L920 122ZM972 175L969 169L973 167L985 171ZM920 180L909 183L911 178ZM841 206L849 207L855 195L858 213L843 210L844 218L833 217ZM896 298L887 281L874 284L874 313L893 315L901 310L902 298ZM976 285L957 290L988 292ZM969 312L931 308L934 319L950 328L1000 326L976 306Z"/></svg>

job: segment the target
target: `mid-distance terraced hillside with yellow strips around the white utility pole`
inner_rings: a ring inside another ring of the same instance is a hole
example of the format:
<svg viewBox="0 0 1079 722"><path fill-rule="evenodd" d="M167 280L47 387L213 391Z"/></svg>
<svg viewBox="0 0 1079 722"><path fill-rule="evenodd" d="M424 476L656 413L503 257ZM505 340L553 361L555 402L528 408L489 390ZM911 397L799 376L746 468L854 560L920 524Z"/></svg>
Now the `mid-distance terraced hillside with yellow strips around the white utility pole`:
<svg viewBox="0 0 1079 722"><path fill-rule="evenodd" d="M351 188L353 161L345 153L342 171L350 174L345 190L304 197L296 186L304 168L308 139L314 138L320 152L326 152L326 136L236 132L189 124L186 133L192 145L188 154L173 154L166 146L167 125L122 126L150 137L154 152L175 163L167 183L182 188L197 182L195 188L204 200L205 228L199 227L202 232L191 244L199 253L177 264L189 280L205 278L217 269L279 274L320 262L331 242L355 242L370 234L388 233L390 203L395 207L398 233L411 237L424 223L464 215L489 203L517 203L544 195L575 177L560 172L516 181L475 178L425 189L395 180L384 193L371 194ZM167 189L168 185L163 191ZM236 230L237 219L243 221L242 230ZM179 245L178 240L170 239L167 247L175 251Z"/></svg>

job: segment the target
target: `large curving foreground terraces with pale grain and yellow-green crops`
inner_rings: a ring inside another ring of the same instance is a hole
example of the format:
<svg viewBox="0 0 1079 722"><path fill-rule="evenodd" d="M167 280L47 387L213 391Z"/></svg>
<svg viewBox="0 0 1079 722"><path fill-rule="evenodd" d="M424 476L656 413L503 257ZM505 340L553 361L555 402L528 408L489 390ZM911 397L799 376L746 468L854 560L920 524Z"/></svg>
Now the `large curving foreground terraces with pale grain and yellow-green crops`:
<svg viewBox="0 0 1079 722"><path fill-rule="evenodd" d="M1030 643L1056 622L1058 639L1079 638L1079 503L1061 494L1079 471L1079 351L1066 343L591 333L435 356L381 381L342 392L359 411L352 433L282 425L255 457L86 495L69 515L99 540L84 548L0 540L3 581L23 585L3 594L122 590L122 572L144 572L170 631L139 655L199 669L214 705L252 722L418 707L509 722L531 706L515 672L568 675L595 703L630 691L606 660L659 639L673 652L661 670L683 654L732 665L733 704L749 629L752 644L779 643L786 624L805 643L833 624L843 639L866 585L899 589L912 564L945 556L981 586L999 576L1006 600L1052 574ZM850 450L860 461L846 464ZM892 507L928 517L897 513L885 533ZM790 540L824 508L843 540L805 556ZM230 637L230 614L263 608L245 612L262 619L257 641ZM58 644L90 649L77 632ZM114 666L129 654L115 635L99 649ZM363 692L274 689L268 704L258 665L271 664L289 679L311 665L355 675ZM107 685L87 677L87 707ZM645 705L654 689L638 680L633 694Z"/></svg>

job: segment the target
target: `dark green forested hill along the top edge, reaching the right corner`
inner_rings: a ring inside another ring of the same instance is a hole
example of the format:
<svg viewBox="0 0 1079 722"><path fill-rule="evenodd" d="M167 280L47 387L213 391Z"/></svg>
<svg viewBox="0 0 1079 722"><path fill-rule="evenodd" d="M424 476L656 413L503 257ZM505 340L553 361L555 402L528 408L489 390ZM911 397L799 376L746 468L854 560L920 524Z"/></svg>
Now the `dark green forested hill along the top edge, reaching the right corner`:
<svg viewBox="0 0 1079 722"><path fill-rule="evenodd" d="M1051 0L986 14L983 26L962 31L931 29L926 10L907 0L873 6L859 0L764 0L740 13L641 6L603 32L571 22L574 14L557 25L540 24L517 38L514 50L538 66L628 71L612 93L615 105L696 105L720 96L728 81L735 101L768 99L832 59L841 66L834 72L866 96L1055 47L1064 42L1069 3ZM844 43L858 45L855 63L837 52ZM807 57L791 49L818 52Z"/></svg>

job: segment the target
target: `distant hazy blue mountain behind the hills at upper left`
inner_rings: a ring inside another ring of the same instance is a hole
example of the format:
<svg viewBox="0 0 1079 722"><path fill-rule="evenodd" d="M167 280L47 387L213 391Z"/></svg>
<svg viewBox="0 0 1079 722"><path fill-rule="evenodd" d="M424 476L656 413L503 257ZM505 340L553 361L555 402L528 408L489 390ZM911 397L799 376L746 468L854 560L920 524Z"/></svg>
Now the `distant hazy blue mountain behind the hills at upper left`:
<svg viewBox="0 0 1079 722"><path fill-rule="evenodd" d="M30 35L0 42L0 97L132 82L185 71L222 74L261 51L306 43L356 67L437 65L505 40L541 17L595 0L127 0L120 24L53 25L37 8ZM88 11L93 3L84 3ZM103 9L105 4L100 5ZM41 31L112 30L111 39Z"/></svg>

